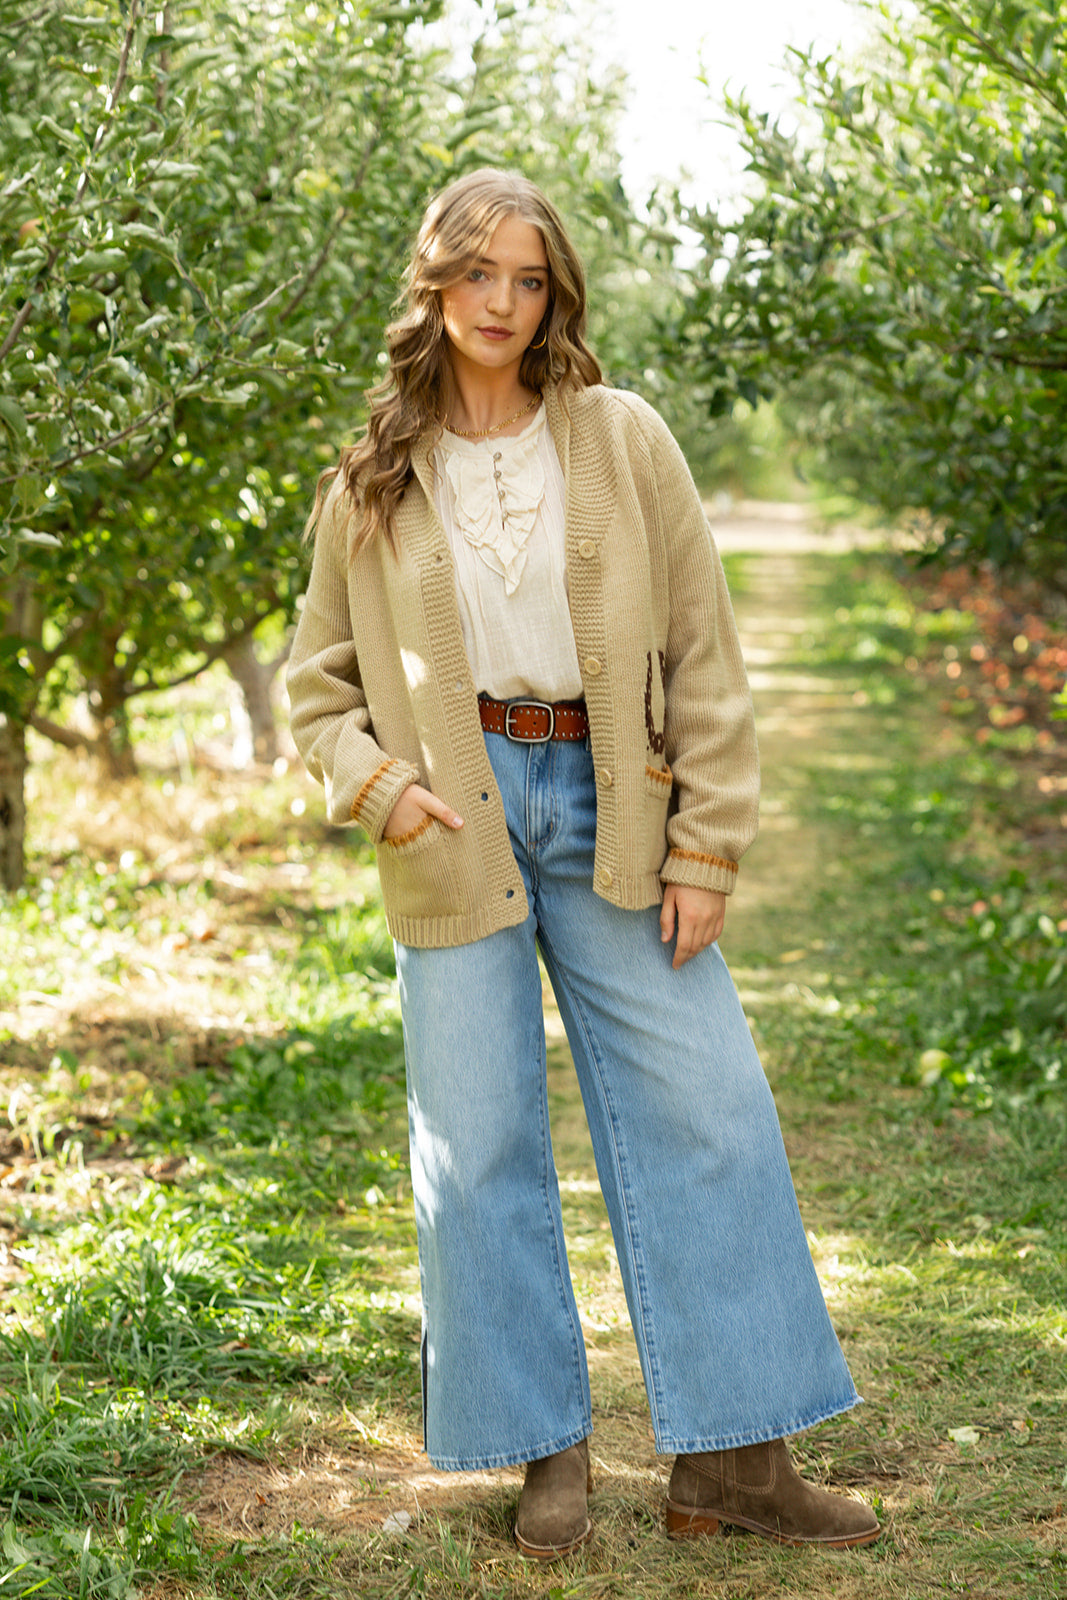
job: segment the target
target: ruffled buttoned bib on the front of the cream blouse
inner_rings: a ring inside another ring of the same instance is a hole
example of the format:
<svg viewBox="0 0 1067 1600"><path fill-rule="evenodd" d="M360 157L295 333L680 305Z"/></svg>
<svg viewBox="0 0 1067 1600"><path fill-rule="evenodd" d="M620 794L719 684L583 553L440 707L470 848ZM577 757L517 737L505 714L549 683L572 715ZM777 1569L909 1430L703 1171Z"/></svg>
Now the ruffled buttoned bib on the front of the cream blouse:
<svg viewBox="0 0 1067 1600"><path fill-rule="evenodd" d="M544 411L537 426L515 438L493 440L491 448L454 437L438 445L456 526L478 558L502 576L507 595L514 595L522 581L526 546L545 493L537 450L542 426ZM494 459L498 453L499 461Z"/></svg>

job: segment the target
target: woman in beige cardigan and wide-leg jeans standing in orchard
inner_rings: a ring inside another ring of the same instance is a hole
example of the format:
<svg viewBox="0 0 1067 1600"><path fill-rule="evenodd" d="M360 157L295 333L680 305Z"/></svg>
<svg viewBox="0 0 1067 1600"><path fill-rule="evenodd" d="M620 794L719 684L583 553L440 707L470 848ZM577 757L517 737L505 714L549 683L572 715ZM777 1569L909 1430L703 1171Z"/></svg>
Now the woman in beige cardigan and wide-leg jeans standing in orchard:
<svg viewBox="0 0 1067 1600"><path fill-rule="evenodd" d="M590 1536L541 950L677 1456L669 1533L865 1544L869 1507L784 1445L857 1395L715 946L758 794L729 598L673 438L601 386L584 325L545 197L458 179L309 522L293 733L331 821L378 845L397 947L426 1448L526 1464L526 1554Z"/></svg>

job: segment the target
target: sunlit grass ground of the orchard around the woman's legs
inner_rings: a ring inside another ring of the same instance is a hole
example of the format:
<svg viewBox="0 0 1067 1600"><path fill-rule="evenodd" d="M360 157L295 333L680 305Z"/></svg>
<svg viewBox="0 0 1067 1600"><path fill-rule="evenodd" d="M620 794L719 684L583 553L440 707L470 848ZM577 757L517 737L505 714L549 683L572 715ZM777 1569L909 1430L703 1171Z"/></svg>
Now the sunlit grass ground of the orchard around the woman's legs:
<svg viewBox="0 0 1067 1600"><path fill-rule="evenodd" d="M752 626L760 563L737 578ZM942 709L966 613L928 616L851 557L790 581L801 626L769 640L763 690L771 826L726 954L867 1398L798 1453L870 1498L886 1538L662 1538L558 1045L597 1541L533 1568L510 1539L518 1475L427 1477L400 1019L366 851L296 773L99 794L64 760L38 768L32 880L0 912L2 1595L1064 1592L1056 752L979 746L965 702Z"/></svg>

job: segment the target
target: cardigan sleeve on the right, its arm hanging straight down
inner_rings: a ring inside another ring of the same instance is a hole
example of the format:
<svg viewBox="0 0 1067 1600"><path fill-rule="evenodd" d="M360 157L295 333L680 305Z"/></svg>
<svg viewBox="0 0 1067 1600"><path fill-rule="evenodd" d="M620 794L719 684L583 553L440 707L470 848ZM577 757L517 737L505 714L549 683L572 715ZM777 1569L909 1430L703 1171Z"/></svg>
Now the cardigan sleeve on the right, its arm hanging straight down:
<svg viewBox="0 0 1067 1600"><path fill-rule="evenodd" d="M749 680L723 565L685 458L645 410L653 493L667 552L664 754L677 806L667 821L665 883L729 893L755 838L760 758Z"/></svg>

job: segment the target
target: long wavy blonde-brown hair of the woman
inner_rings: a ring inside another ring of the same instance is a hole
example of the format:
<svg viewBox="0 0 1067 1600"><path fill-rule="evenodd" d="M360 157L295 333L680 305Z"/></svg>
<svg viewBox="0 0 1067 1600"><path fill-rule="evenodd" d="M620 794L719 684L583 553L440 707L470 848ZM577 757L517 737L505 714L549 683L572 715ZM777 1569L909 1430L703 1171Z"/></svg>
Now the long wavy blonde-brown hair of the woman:
<svg viewBox="0 0 1067 1600"><path fill-rule="evenodd" d="M442 317L442 290L458 283L485 256L506 218L531 222L549 259L549 309L523 354L520 382L585 387L601 381L585 344L585 274L552 202L522 173L482 166L458 178L427 206L398 299L402 315L386 328L389 374L366 394L366 432L318 478L304 536L318 522L334 478L362 512L352 554L384 534L395 549L394 515L411 482L411 451L422 434L440 434L450 398L451 368Z"/></svg>

